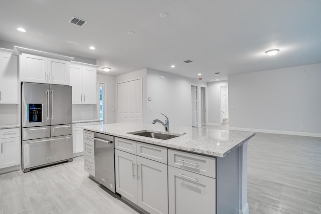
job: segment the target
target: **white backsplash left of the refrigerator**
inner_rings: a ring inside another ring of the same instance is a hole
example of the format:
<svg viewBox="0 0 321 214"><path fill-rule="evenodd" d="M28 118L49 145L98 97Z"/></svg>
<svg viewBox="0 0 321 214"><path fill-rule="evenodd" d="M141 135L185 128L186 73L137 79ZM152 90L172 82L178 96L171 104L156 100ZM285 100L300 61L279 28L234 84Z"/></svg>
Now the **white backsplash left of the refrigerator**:
<svg viewBox="0 0 321 214"><path fill-rule="evenodd" d="M20 124L18 104L0 104L0 125Z"/></svg>

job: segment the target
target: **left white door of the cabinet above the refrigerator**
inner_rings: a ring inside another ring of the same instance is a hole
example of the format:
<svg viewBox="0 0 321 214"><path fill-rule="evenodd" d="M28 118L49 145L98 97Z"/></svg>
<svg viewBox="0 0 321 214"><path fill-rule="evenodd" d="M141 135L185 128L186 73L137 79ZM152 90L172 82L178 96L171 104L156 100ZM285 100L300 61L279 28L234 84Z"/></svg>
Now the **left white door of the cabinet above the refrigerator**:
<svg viewBox="0 0 321 214"><path fill-rule="evenodd" d="M47 58L31 54L21 55L22 81L35 83L48 83L49 75L47 73Z"/></svg>

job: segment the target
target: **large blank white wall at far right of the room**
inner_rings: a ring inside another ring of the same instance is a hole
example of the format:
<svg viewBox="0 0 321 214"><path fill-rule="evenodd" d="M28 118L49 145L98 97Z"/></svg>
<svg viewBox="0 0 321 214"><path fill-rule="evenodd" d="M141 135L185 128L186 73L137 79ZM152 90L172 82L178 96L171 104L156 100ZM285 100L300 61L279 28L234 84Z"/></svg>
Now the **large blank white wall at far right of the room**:
<svg viewBox="0 0 321 214"><path fill-rule="evenodd" d="M321 64L233 75L228 84L230 129L321 136Z"/></svg>

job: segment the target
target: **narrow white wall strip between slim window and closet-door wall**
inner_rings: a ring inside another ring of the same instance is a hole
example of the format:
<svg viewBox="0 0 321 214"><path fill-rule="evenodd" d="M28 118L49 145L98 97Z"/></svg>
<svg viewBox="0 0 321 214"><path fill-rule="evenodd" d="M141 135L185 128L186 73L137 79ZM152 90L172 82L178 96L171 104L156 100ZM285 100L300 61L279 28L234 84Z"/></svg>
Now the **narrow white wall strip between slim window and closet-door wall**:
<svg viewBox="0 0 321 214"><path fill-rule="evenodd" d="M116 84L115 77L97 74L97 83L105 83L105 99L106 99L106 111L104 123L115 123L116 122Z"/></svg>

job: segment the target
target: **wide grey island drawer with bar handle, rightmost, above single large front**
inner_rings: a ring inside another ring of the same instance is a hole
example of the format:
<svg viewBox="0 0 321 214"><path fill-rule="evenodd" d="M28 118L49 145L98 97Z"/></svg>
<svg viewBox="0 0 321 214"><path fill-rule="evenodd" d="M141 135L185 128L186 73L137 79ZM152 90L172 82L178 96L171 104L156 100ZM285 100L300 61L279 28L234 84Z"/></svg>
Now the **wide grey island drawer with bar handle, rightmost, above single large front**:
<svg viewBox="0 0 321 214"><path fill-rule="evenodd" d="M216 158L169 149L169 165L216 178Z"/></svg>

